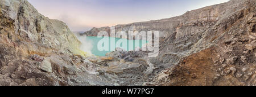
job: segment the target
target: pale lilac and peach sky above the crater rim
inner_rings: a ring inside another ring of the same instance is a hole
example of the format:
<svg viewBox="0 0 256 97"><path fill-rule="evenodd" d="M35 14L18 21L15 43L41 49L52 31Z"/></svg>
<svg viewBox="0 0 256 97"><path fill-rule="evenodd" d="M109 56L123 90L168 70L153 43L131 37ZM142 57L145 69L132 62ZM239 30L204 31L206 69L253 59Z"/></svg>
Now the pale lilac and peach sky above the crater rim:
<svg viewBox="0 0 256 97"><path fill-rule="evenodd" d="M41 14L64 21L72 31L182 15L229 0L28 0Z"/></svg>

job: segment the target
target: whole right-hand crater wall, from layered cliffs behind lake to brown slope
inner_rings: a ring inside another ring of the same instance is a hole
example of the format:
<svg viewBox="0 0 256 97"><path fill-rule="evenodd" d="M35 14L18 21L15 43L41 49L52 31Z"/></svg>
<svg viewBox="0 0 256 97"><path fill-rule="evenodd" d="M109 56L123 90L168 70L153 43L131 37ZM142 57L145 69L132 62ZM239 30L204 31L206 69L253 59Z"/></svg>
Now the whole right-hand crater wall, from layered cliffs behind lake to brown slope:
<svg viewBox="0 0 256 97"><path fill-rule="evenodd" d="M147 85L255 85L255 2L231 0L115 30L160 31L160 54L150 58L156 77ZM110 28L83 34L96 36L102 30Z"/></svg>

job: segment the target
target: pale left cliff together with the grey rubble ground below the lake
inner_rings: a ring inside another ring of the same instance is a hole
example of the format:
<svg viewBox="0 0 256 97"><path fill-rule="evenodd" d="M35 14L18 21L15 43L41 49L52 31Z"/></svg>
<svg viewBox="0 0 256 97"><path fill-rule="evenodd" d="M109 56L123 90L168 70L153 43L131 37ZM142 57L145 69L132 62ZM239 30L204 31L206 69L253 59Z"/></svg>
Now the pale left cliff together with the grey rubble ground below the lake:
<svg viewBox="0 0 256 97"><path fill-rule="evenodd" d="M148 81L142 77L149 71L148 60L135 63L90 56L80 45L65 23L39 14L27 0L0 1L0 85L143 85Z"/></svg>

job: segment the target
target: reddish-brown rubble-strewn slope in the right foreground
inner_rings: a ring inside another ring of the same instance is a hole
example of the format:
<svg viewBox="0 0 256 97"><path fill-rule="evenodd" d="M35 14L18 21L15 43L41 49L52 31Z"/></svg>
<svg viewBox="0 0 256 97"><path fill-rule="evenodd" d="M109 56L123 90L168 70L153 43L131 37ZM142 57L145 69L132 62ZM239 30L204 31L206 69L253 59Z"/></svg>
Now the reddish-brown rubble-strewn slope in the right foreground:
<svg viewBox="0 0 256 97"><path fill-rule="evenodd" d="M255 85L255 8L249 0L216 5L216 20L156 85Z"/></svg>

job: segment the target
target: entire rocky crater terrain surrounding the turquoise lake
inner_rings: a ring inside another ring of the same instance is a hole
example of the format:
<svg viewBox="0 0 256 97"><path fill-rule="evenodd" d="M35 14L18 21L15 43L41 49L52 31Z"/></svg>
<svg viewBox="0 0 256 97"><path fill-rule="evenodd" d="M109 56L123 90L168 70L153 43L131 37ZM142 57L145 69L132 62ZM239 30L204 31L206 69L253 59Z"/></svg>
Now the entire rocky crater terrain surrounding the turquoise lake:
<svg viewBox="0 0 256 97"><path fill-rule="evenodd" d="M88 56L59 20L0 0L0 85L256 85L256 1L231 0L118 30L159 30L160 54ZM109 27L85 32L96 36Z"/></svg>

